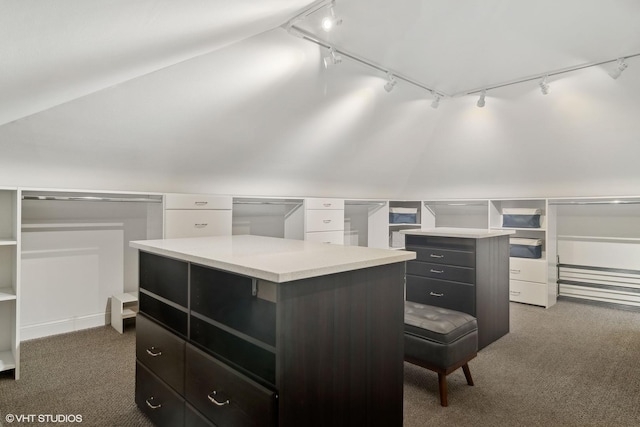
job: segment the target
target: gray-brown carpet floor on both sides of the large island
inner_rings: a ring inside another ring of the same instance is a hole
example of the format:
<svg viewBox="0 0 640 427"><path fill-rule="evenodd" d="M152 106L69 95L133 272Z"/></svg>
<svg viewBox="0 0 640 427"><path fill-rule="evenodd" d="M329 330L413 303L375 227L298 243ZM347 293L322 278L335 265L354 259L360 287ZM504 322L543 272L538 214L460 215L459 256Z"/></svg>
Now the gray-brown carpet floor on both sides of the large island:
<svg viewBox="0 0 640 427"><path fill-rule="evenodd" d="M111 327L22 343L22 378L0 376L6 414L79 414L82 423L149 426L135 407L135 330ZM406 427L638 426L640 313L561 301L545 310L511 304L511 332L449 376L449 407L437 375L405 364Z"/></svg>

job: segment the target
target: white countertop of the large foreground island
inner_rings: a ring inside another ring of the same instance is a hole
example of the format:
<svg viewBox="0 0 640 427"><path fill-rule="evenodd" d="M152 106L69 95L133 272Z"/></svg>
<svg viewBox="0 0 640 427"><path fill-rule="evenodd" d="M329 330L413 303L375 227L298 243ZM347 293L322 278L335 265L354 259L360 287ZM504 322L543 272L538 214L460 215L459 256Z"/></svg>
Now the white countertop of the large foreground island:
<svg viewBox="0 0 640 427"><path fill-rule="evenodd" d="M130 242L157 255L271 282L289 282L415 259L408 251L235 235Z"/></svg>

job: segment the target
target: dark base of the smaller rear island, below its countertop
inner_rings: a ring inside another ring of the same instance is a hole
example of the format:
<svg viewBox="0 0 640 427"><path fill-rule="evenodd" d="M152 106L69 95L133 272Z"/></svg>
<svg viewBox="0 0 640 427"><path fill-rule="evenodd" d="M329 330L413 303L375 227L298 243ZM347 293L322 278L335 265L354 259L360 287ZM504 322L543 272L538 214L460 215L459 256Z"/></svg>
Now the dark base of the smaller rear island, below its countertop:
<svg viewBox="0 0 640 427"><path fill-rule="evenodd" d="M509 236L407 235L406 299L468 313L478 349L509 332Z"/></svg>

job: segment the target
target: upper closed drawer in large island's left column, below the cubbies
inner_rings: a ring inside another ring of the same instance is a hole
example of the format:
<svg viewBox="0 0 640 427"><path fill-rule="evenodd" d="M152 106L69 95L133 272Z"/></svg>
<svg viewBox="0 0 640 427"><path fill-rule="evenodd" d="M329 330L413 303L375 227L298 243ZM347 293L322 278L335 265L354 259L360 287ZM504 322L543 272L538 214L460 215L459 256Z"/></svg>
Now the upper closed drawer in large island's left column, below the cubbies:
<svg viewBox="0 0 640 427"><path fill-rule="evenodd" d="M184 394L184 346L184 340L146 316L136 317L136 358L180 394Z"/></svg>

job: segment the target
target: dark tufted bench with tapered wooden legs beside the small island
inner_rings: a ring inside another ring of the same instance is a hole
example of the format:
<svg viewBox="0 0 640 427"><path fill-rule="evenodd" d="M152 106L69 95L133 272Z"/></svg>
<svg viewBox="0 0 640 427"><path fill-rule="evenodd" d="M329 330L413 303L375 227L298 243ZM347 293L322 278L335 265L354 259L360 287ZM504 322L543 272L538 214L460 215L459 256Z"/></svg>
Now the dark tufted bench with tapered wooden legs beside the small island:
<svg viewBox="0 0 640 427"><path fill-rule="evenodd" d="M459 311L405 301L404 360L438 373L440 404L447 406L447 375L462 368L473 385L469 360L478 353L476 318Z"/></svg>

